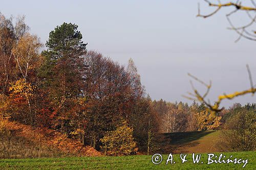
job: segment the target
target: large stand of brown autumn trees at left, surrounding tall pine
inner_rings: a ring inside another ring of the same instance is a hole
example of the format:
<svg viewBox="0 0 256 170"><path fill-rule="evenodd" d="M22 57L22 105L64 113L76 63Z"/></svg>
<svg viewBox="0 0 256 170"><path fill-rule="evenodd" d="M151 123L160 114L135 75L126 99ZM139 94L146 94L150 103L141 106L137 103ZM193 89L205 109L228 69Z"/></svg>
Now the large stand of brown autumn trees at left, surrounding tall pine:
<svg viewBox="0 0 256 170"><path fill-rule="evenodd" d="M71 23L56 27L48 50L39 55L42 45L28 32L24 17L14 24L0 14L1 114L25 124L19 126L35 128L22 130L23 137L34 133L29 140L44 139L44 144L70 152L83 151L81 143L99 149L105 132L126 120L140 147L149 152L158 131L157 112L145 97L134 62L130 59L125 68L87 52L77 27ZM81 142L76 149L70 147L71 138Z"/></svg>

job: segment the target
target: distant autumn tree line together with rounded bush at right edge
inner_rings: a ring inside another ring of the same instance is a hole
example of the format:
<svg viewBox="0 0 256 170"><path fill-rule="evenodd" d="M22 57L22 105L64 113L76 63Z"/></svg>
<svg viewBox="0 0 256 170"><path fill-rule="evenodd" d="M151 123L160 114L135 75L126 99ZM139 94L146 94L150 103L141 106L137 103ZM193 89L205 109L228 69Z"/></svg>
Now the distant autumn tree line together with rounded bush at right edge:
<svg viewBox="0 0 256 170"><path fill-rule="evenodd" d="M256 104L242 106L234 103L220 112L212 111L204 103L170 103L153 101L160 117L162 133L220 130L218 138L209 145L220 151L256 150Z"/></svg>

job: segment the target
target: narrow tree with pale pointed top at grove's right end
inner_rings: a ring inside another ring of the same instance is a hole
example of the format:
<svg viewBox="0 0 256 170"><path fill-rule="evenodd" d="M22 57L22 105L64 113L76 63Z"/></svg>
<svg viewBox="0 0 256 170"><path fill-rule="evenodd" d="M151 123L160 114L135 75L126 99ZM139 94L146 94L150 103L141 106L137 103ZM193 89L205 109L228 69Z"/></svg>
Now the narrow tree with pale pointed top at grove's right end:
<svg viewBox="0 0 256 170"><path fill-rule="evenodd" d="M126 119L134 129L134 137L141 151L150 154L157 147L158 113L153 108L150 96L145 94L140 75L132 59L129 60L126 70L132 87L129 100L130 111Z"/></svg>

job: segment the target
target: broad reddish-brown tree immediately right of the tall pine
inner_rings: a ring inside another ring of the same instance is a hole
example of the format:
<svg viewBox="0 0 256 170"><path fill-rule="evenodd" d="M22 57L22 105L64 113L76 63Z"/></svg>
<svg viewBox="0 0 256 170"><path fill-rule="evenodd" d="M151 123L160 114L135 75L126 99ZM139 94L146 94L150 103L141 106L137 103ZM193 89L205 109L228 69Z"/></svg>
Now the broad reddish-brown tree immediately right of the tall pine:
<svg viewBox="0 0 256 170"><path fill-rule="evenodd" d="M106 131L113 131L130 107L131 84L125 68L101 54L90 51L84 78L86 85L87 143L98 148Z"/></svg>

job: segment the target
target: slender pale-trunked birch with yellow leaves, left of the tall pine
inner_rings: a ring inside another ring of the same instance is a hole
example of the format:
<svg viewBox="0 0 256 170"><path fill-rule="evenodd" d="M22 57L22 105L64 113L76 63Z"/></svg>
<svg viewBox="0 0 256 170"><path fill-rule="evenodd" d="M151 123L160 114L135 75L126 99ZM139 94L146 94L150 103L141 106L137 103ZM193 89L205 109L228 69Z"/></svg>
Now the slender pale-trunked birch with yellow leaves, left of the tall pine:
<svg viewBox="0 0 256 170"><path fill-rule="evenodd" d="M33 123L33 110L31 97L33 90L31 83L35 84L37 71L40 64L39 50L41 43L36 36L26 33L21 37L17 44L12 49L12 54L16 62L17 78L15 86L12 86L10 90L12 93L20 93L21 97L26 99L29 111L27 114L30 115L30 124ZM29 90L30 92L27 92ZM24 94L23 94L24 93Z"/></svg>

